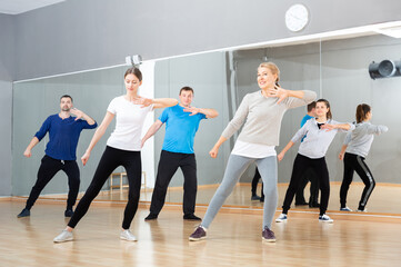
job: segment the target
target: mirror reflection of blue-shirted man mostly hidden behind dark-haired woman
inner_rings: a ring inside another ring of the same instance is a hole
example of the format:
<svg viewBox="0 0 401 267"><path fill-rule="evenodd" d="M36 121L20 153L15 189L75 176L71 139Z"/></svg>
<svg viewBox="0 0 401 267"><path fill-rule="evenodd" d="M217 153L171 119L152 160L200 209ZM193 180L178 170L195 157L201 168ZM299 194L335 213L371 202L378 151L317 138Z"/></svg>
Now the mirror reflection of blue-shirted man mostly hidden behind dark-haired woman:
<svg viewBox="0 0 401 267"><path fill-rule="evenodd" d="M301 120L301 128L304 123L307 123L308 120L313 119L315 117L315 106L317 106L315 101L308 105L307 107L308 112ZM304 138L305 137L302 138L301 142L303 141ZM309 197L309 202L307 202L303 191L309 181L311 182L309 190L310 197ZM299 185L299 188L297 190L295 206L309 205L309 207L311 208L319 208L320 205L318 199L319 199L319 179L313 170L308 169L305 170L302 180Z"/></svg>

